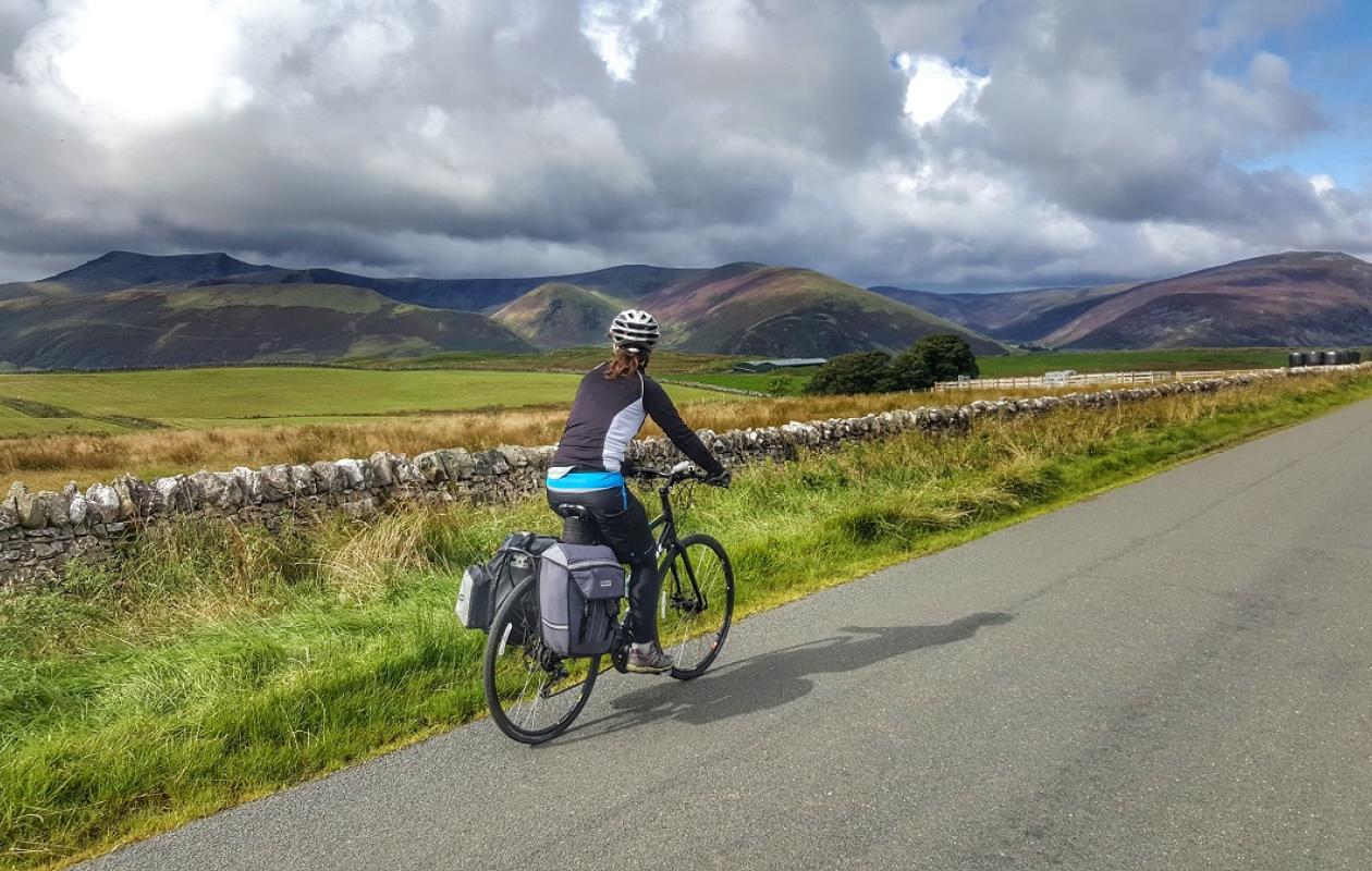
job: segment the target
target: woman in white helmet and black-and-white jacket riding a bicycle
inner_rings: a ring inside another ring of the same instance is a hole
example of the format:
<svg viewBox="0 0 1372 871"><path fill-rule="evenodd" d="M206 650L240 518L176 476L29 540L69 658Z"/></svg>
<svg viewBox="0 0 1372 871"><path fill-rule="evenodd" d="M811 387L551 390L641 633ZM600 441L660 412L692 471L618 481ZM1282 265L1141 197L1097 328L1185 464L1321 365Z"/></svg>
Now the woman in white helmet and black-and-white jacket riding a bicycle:
<svg viewBox="0 0 1372 871"><path fill-rule="evenodd" d="M560 516L564 506L591 513L601 538L630 565L628 624L634 643L628 671L661 673L672 657L657 643L657 554L643 503L624 486L624 450L646 417L709 476L707 483L729 486L729 472L700 436L682 421L667 391L645 374L661 331L653 315L638 309L620 311L611 324L615 358L582 379L572 411L547 470L547 502Z"/></svg>

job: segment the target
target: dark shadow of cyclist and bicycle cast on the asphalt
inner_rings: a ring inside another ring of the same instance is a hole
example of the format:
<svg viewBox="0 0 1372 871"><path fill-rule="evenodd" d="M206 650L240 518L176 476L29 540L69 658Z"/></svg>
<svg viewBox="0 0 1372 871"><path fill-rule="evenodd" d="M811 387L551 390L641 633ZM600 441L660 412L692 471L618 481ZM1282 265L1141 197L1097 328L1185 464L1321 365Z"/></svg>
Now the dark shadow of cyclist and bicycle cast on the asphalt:
<svg viewBox="0 0 1372 871"><path fill-rule="evenodd" d="M816 675L858 671L922 647L966 641L984 625L1013 619L1014 615L989 612L941 625L842 627L845 635L727 663L697 680L663 680L626 693L611 702L615 713L575 731L590 738L665 719L702 724L777 708L807 695L815 689ZM572 741L576 739L558 743Z"/></svg>

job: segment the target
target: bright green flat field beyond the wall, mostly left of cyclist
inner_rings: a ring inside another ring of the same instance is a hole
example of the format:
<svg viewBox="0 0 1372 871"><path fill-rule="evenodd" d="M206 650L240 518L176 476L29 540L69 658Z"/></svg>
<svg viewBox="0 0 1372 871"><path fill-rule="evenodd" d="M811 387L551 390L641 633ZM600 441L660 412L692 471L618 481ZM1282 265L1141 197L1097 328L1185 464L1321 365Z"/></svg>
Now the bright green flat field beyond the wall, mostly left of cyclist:
<svg viewBox="0 0 1372 871"><path fill-rule="evenodd" d="M128 432L118 418L206 429L376 421L493 407L567 405L579 376L464 369L386 372L333 368L228 368L63 374L0 374L0 402L58 406L26 414L0 406L0 438ZM720 394L672 387L678 402ZM114 417L114 421L100 421Z"/></svg>

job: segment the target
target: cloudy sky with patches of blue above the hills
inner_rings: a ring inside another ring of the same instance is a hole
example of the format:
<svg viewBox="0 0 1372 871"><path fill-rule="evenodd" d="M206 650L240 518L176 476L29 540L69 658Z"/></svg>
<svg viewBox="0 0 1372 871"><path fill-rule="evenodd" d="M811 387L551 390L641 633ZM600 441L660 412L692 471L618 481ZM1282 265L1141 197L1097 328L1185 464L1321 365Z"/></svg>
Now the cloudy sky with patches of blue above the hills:
<svg viewBox="0 0 1372 871"><path fill-rule="evenodd" d="M0 0L0 281L1372 256L1372 0Z"/></svg>

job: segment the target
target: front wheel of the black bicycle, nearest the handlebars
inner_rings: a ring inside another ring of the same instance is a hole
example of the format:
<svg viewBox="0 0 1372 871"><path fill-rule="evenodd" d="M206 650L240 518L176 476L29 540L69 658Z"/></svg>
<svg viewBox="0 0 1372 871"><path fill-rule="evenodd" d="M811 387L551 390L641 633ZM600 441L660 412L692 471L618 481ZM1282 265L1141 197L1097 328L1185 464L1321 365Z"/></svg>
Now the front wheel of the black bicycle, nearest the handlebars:
<svg viewBox="0 0 1372 871"><path fill-rule="evenodd" d="M657 610L657 638L676 665L672 678L705 673L719 656L734 619L734 566L724 546L708 535L687 535L667 554Z"/></svg>

